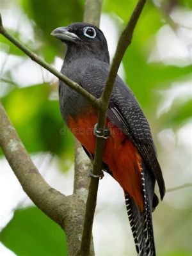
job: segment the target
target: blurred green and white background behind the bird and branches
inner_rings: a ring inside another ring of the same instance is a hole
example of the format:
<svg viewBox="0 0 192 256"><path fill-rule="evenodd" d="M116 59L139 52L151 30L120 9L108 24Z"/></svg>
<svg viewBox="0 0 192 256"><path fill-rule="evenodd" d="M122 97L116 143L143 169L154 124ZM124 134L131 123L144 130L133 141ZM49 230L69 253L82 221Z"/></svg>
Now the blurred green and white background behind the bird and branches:
<svg viewBox="0 0 192 256"><path fill-rule="evenodd" d="M100 28L111 58L135 4L104 0ZM65 46L50 33L82 21L83 8L83 0L0 0L4 27L58 70ZM162 256L192 255L191 64L191 0L148 0L119 74L148 118L170 189L153 214ZM70 195L73 138L60 115L58 79L1 35L0 98L44 178ZM66 255L61 228L29 200L1 151L0 173L0 255ZM175 190L178 186L184 188ZM122 189L107 174L100 181L93 238L98 256L135 255Z"/></svg>

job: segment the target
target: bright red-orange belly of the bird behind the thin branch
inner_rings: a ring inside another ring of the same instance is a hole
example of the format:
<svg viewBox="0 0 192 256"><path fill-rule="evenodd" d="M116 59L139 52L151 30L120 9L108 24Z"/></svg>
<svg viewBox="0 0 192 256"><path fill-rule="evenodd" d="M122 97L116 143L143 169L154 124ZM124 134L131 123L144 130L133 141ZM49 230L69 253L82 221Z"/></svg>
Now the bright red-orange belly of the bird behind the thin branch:
<svg viewBox="0 0 192 256"><path fill-rule="evenodd" d="M70 131L77 140L92 154L95 152L96 137L93 127L97 123L97 114L89 113L77 118L69 118ZM108 164L113 177L118 181L125 192L134 199L139 209L143 209L143 196L141 194L141 157L134 144L118 129L113 122L106 120L106 127L110 136L104 148L104 163Z"/></svg>

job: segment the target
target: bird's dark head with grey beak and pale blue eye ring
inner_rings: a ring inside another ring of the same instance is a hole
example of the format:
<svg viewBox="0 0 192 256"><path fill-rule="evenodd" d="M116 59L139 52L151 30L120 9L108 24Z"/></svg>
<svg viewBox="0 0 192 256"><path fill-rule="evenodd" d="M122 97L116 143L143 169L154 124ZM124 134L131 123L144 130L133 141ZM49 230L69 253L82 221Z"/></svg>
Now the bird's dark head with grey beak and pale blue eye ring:
<svg viewBox="0 0 192 256"><path fill-rule="evenodd" d="M56 28L52 36L67 45L67 56L94 56L109 63L109 52L106 38L102 31L92 24L72 23L67 27Z"/></svg>

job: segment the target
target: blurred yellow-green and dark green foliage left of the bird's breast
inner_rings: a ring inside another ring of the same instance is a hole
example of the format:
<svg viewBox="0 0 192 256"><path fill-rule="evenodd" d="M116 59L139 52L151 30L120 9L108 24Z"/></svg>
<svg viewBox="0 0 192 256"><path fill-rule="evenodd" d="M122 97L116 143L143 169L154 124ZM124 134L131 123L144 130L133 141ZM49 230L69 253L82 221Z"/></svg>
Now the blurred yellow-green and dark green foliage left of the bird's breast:
<svg viewBox="0 0 192 256"><path fill-rule="evenodd" d="M14 88L2 99L3 105L28 152L50 151L61 156L72 151L72 140L63 127L58 100L49 100L51 86L36 84ZM53 125L54 124L54 125Z"/></svg>

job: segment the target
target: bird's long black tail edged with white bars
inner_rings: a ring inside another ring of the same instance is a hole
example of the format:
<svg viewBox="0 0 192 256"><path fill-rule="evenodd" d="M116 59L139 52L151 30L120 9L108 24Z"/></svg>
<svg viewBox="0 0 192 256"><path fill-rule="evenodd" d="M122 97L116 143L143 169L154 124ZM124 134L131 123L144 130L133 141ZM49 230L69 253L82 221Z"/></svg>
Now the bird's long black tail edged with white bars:
<svg viewBox="0 0 192 256"><path fill-rule="evenodd" d="M141 172L141 180L144 201L143 211L141 212L138 209L134 200L127 193L125 193L125 204L138 256L156 256L152 227L152 204L154 197L154 184L152 183L154 182L148 179L147 172L143 172L143 170Z"/></svg>

